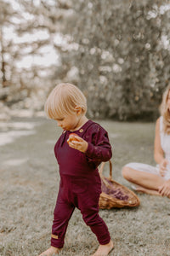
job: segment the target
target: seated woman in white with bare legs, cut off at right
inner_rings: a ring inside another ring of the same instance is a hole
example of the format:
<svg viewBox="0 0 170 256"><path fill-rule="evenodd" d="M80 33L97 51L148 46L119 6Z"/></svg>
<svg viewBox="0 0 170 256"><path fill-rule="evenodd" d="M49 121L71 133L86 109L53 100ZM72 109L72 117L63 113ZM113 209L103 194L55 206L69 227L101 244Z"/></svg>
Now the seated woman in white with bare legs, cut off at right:
<svg viewBox="0 0 170 256"><path fill-rule="evenodd" d="M170 198L170 84L163 94L160 110L154 148L157 165L129 163L123 166L122 176L134 183L133 189L137 191Z"/></svg>

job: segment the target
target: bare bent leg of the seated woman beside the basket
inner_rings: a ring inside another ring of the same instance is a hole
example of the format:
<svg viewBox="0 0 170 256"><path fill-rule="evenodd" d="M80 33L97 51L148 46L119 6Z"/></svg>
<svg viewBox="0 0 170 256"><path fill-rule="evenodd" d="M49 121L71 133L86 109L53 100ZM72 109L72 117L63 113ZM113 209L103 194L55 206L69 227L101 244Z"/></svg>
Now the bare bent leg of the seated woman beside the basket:
<svg viewBox="0 0 170 256"><path fill-rule="evenodd" d="M162 177L156 174L137 171L128 166L122 168L122 176L130 183L139 185L138 191L151 195L159 195L158 188L165 182Z"/></svg>

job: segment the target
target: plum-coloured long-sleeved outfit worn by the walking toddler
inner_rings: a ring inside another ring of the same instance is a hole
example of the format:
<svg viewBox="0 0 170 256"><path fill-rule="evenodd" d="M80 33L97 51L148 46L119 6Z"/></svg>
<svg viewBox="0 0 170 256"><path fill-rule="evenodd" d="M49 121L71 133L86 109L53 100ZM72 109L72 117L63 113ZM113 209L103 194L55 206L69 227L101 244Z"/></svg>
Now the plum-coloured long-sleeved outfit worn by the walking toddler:
<svg viewBox="0 0 170 256"><path fill-rule="evenodd" d="M99 244L111 241L108 228L99 217L101 183L98 166L111 159L111 144L107 132L100 125L88 120L77 136L88 142L86 153L69 147L66 142L71 131L63 131L55 144L54 153L59 163L59 194L54 209L51 245L61 248L71 215L77 207L84 222L97 236Z"/></svg>

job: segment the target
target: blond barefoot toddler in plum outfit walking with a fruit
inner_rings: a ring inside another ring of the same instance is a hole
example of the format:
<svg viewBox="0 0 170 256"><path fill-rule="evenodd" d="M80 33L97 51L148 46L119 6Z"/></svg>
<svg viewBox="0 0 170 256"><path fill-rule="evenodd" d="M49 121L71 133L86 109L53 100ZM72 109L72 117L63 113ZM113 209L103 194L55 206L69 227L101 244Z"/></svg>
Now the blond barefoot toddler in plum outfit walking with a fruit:
<svg viewBox="0 0 170 256"><path fill-rule="evenodd" d="M106 256L113 249L113 242L104 220L99 217L101 183L98 166L111 159L107 132L86 117L86 98L73 84L58 84L48 96L45 112L57 121L63 132L54 146L60 183L51 247L40 255L59 253L64 246L69 219L77 207L99 241L99 248L93 255Z"/></svg>

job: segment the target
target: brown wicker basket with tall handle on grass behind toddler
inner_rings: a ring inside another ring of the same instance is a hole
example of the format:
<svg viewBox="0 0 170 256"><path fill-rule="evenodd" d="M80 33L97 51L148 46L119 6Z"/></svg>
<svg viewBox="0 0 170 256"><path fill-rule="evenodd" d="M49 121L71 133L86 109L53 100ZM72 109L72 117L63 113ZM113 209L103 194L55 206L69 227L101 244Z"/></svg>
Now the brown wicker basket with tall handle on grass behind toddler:
<svg viewBox="0 0 170 256"><path fill-rule="evenodd" d="M112 179L112 164L110 162L110 177L103 176L105 163L99 167L102 193L99 196L99 208L111 209L112 207L138 207L139 198L130 189Z"/></svg>

